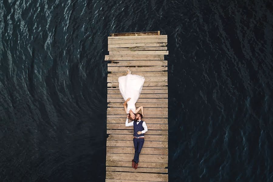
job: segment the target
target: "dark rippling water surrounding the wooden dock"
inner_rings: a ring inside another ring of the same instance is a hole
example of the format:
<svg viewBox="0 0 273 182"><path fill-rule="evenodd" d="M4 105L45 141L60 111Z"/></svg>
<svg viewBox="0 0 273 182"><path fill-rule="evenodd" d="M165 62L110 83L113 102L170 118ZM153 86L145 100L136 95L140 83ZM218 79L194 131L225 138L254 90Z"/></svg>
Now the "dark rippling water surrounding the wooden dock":
<svg viewBox="0 0 273 182"><path fill-rule="evenodd" d="M0 1L0 181L105 181L107 36L168 35L169 181L273 181L272 1Z"/></svg>

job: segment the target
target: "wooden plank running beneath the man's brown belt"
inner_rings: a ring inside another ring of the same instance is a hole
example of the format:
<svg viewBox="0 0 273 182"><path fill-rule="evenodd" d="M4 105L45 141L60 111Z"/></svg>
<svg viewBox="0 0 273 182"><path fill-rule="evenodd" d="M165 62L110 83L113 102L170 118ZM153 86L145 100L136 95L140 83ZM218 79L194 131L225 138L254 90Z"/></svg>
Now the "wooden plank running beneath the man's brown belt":
<svg viewBox="0 0 273 182"><path fill-rule="evenodd" d="M132 135L110 134L107 140L133 140ZM168 141L168 135L145 135L145 141ZM145 143L145 142L144 142Z"/></svg>

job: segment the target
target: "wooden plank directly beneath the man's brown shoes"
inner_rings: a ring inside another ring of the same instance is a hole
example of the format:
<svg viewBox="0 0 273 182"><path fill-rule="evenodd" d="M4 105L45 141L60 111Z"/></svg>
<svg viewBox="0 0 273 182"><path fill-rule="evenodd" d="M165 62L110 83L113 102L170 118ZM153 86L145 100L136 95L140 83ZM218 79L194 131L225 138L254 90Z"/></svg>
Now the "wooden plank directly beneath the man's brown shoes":
<svg viewBox="0 0 273 182"><path fill-rule="evenodd" d="M106 166L117 167L132 167L132 162L127 161L106 161ZM156 162L140 162L138 167L152 167L152 168L165 168L168 167L168 163L156 163Z"/></svg>

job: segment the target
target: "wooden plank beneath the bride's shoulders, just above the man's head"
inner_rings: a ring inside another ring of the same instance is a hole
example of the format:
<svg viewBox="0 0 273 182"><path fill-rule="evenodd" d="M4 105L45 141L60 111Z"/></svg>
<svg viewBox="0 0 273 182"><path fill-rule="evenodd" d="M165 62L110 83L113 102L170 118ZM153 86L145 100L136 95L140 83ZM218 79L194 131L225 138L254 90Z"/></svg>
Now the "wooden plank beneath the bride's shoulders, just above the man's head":
<svg viewBox="0 0 273 182"><path fill-rule="evenodd" d="M167 115L168 114L168 108L145 108L144 110L144 115L145 113L148 113L150 115ZM124 115L125 110L124 108L116 108L116 107L108 107L107 108L107 115Z"/></svg>

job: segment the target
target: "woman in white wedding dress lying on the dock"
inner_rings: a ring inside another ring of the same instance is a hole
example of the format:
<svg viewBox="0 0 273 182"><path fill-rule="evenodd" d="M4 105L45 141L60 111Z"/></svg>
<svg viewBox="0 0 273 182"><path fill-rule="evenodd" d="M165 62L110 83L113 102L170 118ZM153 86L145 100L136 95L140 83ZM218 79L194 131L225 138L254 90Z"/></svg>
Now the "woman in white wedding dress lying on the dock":
<svg viewBox="0 0 273 182"><path fill-rule="evenodd" d="M140 106L138 109L136 109L135 103L137 102L138 97L142 91L145 78L139 75L132 75L129 69L127 69L126 72L126 76L120 76L118 78L119 91L125 100L125 103L123 103L124 110L127 114L129 114L129 119L133 121L135 120L135 114L138 113L139 110L141 110L142 116L144 116L143 106Z"/></svg>

